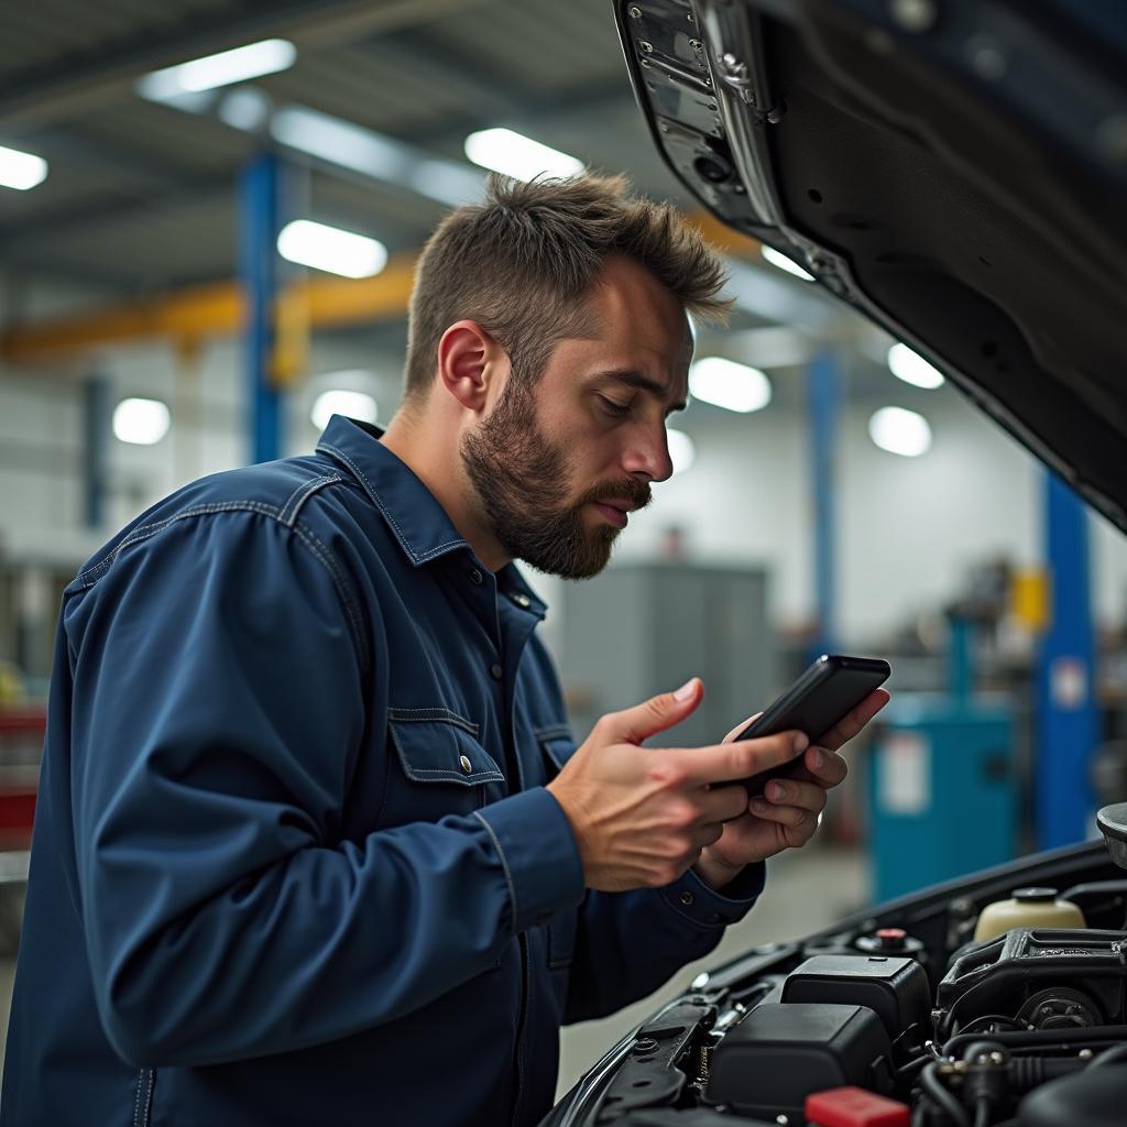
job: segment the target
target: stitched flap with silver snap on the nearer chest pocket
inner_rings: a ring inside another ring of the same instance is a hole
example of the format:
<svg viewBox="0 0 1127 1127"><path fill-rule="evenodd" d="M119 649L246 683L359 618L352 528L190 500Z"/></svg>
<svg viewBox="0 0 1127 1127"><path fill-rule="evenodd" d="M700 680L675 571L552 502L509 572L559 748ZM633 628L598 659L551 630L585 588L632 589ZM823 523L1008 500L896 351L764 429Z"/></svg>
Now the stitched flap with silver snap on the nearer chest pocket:
<svg viewBox="0 0 1127 1127"><path fill-rule="evenodd" d="M408 779L463 787L504 782L497 762L471 735L477 725L456 713L445 709L388 709L388 721Z"/></svg>

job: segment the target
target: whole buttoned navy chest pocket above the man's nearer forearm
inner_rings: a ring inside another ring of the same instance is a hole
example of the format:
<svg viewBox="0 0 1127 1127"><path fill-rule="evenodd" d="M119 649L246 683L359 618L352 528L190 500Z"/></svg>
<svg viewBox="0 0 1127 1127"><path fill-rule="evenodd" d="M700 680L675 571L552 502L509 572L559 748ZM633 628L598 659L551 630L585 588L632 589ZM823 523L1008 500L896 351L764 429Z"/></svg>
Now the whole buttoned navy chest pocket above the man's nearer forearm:
<svg viewBox="0 0 1127 1127"><path fill-rule="evenodd" d="M497 761L478 743L478 726L456 712L389 708L388 731L398 770L389 762L382 825L472 814L483 802L486 786L505 781Z"/></svg>

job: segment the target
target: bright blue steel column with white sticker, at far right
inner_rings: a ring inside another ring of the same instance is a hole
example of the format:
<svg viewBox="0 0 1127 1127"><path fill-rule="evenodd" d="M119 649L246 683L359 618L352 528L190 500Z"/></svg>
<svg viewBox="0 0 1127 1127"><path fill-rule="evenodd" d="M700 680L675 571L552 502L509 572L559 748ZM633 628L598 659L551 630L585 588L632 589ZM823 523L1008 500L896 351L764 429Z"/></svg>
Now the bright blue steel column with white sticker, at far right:
<svg viewBox="0 0 1127 1127"><path fill-rule="evenodd" d="M1067 845L1089 835L1094 806L1089 764L1099 739L1088 513L1083 502L1055 474L1047 473L1046 482L1050 594L1037 694L1039 849Z"/></svg>

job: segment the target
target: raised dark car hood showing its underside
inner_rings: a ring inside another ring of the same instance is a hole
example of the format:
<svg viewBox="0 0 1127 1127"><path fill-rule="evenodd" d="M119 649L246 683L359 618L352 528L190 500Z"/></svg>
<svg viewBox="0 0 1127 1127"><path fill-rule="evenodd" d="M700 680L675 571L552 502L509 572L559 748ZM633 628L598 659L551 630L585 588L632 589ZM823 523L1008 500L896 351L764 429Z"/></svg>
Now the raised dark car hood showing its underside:
<svg viewBox="0 0 1127 1127"><path fill-rule="evenodd" d="M1127 6L618 0L663 157L1127 531Z"/></svg>

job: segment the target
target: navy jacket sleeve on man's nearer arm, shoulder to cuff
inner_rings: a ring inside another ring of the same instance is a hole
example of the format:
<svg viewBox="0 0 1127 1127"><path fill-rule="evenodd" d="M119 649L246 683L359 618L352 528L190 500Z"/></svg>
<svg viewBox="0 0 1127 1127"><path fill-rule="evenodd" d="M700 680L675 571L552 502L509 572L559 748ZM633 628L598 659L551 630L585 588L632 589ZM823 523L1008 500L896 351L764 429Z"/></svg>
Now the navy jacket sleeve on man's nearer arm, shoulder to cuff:
<svg viewBox="0 0 1127 1127"><path fill-rule="evenodd" d="M542 789L341 840L372 737L334 569L269 516L215 513L124 549L64 611L73 894L103 1026L131 1063L390 1021L582 898Z"/></svg>

